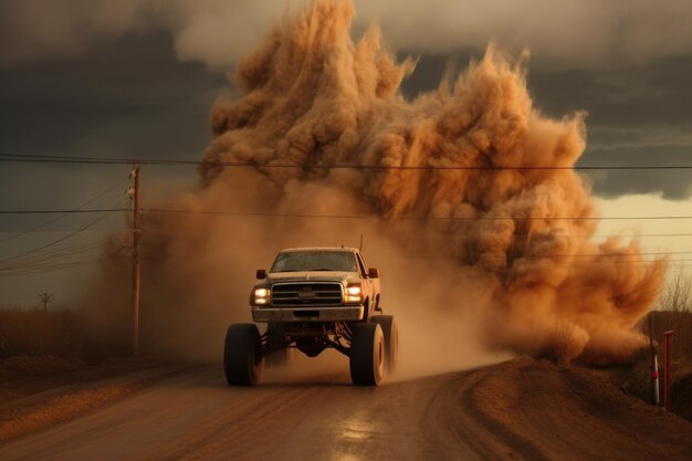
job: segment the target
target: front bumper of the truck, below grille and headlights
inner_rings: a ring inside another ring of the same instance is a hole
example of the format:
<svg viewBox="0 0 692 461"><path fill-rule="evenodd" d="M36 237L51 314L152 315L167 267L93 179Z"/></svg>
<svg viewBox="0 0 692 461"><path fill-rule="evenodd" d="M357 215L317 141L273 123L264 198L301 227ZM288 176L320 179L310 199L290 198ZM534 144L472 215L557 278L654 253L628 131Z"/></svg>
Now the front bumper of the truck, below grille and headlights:
<svg viewBox="0 0 692 461"><path fill-rule="evenodd" d="M348 322L361 321L363 306L252 307L254 322Z"/></svg>

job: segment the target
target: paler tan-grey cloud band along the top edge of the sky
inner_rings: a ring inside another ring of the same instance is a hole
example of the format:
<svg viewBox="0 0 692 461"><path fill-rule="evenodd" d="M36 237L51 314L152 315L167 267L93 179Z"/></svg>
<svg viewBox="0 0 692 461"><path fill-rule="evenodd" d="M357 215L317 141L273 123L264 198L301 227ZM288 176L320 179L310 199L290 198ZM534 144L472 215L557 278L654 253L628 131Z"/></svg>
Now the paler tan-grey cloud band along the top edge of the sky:
<svg viewBox="0 0 692 461"><path fill-rule="evenodd" d="M688 0L356 0L356 28L426 53L496 41L544 64L600 67L692 52ZM182 60L224 69L300 2L276 0L0 0L0 62L76 56L96 41L161 29Z"/></svg>

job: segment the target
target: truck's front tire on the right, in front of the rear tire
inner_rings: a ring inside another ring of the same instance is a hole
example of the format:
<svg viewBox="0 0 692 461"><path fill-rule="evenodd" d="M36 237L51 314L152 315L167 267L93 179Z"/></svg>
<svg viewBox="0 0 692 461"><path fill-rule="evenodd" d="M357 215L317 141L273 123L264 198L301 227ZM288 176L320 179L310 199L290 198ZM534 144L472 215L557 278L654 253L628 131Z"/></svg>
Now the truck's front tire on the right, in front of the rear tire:
<svg viewBox="0 0 692 461"><path fill-rule="evenodd" d="M356 386L377 386L385 374L385 335L376 323L352 326L350 379Z"/></svg>

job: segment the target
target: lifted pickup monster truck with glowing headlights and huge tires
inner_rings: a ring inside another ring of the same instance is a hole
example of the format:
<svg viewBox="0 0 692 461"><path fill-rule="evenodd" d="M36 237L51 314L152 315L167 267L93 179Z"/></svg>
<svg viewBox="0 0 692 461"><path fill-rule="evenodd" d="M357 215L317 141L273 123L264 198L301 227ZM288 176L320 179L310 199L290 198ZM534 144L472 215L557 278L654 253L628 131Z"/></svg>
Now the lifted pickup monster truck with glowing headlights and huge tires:
<svg viewBox="0 0 692 461"><path fill-rule="evenodd" d="M255 323L232 324L223 368L229 385L260 383L264 362L285 363L295 349L316 357L326 348L346 355L358 386L377 386L394 369L398 329L384 315L379 271L354 248L281 251L269 272L258 270L250 294Z"/></svg>

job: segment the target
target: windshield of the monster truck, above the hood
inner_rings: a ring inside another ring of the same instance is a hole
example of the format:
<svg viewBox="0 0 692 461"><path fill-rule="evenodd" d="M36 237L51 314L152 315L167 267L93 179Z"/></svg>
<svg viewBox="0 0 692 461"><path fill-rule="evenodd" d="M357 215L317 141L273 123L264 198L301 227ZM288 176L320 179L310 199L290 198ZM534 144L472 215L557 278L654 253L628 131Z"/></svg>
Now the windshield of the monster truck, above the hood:
<svg viewBox="0 0 692 461"><path fill-rule="evenodd" d="M345 251L290 251L279 253L271 272L357 272L354 253Z"/></svg>

